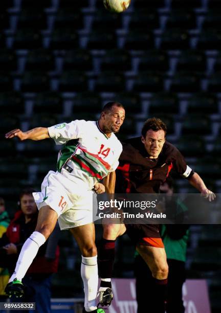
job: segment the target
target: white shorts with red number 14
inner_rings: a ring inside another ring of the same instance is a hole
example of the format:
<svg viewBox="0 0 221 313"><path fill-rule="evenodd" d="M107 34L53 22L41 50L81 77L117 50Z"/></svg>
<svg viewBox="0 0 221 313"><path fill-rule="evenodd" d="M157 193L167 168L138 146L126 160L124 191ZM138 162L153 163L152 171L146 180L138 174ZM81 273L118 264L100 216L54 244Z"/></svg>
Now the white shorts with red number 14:
<svg viewBox="0 0 221 313"><path fill-rule="evenodd" d="M41 184L41 192L33 192L38 210L50 206L58 214L61 230L74 228L93 222L97 211L96 193L87 190L88 186L70 181L59 172L49 171Z"/></svg>

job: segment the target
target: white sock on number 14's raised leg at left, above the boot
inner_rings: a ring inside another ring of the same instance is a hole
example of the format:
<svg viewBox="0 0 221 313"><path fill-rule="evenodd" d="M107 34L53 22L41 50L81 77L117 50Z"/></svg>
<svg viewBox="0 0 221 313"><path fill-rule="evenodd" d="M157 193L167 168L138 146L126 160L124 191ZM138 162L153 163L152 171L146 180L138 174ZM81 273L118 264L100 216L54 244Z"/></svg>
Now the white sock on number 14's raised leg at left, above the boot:
<svg viewBox="0 0 221 313"><path fill-rule="evenodd" d="M31 236L25 241L20 251L15 271L9 279L9 282L15 278L21 280L26 275L33 259L35 258L40 246L46 242L46 238L39 232L33 232Z"/></svg>

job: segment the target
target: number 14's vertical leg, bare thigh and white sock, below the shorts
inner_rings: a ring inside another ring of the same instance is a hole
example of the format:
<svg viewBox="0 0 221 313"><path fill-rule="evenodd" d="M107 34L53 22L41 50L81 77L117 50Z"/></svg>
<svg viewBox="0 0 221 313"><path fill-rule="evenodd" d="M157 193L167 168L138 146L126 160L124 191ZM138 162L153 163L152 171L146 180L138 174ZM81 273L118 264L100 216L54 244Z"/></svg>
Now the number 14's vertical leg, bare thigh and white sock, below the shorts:
<svg viewBox="0 0 221 313"><path fill-rule="evenodd" d="M70 229L82 255L81 277L84 285L84 310L97 312L98 266L93 223Z"/></svg>

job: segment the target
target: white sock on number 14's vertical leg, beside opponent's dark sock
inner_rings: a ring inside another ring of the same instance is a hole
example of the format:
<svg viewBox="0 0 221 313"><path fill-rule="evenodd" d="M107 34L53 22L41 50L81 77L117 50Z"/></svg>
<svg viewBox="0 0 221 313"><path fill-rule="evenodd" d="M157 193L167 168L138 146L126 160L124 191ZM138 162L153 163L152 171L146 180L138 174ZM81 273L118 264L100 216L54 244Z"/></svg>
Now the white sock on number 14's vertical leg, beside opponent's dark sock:
<svg viewBox="0 0 221 313"><path fill-rule="evenodd" d="M90 258L82 256L81 277L84 285L84 307L87 312L97 309L96 297L98 289L97 255Z"/></svg>

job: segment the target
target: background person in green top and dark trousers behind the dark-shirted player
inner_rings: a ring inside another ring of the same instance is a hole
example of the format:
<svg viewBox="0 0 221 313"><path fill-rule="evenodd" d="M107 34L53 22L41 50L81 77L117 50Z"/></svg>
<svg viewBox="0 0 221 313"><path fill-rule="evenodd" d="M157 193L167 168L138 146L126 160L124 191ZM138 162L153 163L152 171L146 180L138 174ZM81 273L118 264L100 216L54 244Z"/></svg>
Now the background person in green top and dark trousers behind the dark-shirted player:
<svg viewBox="0 0 221 313"><path fill-rule="evenodd" d="M173 193L173 183L170 177L167 178L164 184L160 186L160 192L165 194ZM173 198L166 198L165 205L171 211L182 211L179 218L185 218L185 204L177 203ZM178 208L178 206L182 208ZM182 209L182 210L180 210ZM188 225L161 225L161 237L163 239L167 263L169 267L168 284L167 284L167 313L184 313L182 287L186 279L185 261L188 240ZM135 277L136 277L136 292L138 302L138 313L143 313L147 307L148 299L151 301L151 286L153 285L152 274L143 260L136 252L135 257ZM156 312L157 313L157 312Z"/></svg>

